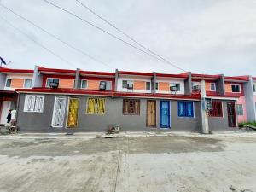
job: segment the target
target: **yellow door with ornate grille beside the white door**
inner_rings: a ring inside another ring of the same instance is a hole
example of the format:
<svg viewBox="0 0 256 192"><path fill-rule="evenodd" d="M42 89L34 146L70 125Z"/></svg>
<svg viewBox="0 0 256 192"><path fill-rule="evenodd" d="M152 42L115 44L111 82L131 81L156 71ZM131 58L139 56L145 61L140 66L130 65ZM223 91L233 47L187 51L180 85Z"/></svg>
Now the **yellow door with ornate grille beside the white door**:
<svg viewBox="0 0 256 192"><path fill-rule="evenodd" d="M69 98L67 127L75 128L78 126L79 99Z"/></svg>

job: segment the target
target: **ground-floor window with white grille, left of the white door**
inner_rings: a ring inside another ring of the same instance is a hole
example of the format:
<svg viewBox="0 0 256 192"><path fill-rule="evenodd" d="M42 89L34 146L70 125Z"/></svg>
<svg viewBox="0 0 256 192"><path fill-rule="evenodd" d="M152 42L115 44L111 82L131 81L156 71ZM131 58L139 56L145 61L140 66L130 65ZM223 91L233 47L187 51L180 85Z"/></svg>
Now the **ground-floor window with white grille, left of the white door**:
<svg viewBox="0 0 256 192"><path fill-rule="evenodd" d="M24 103L24 112L43 113L44 96L26 95Z"/></svg>

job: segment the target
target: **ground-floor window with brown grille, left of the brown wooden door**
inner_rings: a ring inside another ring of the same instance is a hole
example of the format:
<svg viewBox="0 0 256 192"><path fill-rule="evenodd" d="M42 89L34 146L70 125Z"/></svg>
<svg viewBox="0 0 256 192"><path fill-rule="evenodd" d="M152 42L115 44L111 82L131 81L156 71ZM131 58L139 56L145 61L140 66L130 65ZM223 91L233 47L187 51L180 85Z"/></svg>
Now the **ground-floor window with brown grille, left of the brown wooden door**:
<svg viewBox="0 0 256 192"><path fill-rule="evenodd" d="M140 101L137 99L123 100L123 114L140 114Z"/></svg>

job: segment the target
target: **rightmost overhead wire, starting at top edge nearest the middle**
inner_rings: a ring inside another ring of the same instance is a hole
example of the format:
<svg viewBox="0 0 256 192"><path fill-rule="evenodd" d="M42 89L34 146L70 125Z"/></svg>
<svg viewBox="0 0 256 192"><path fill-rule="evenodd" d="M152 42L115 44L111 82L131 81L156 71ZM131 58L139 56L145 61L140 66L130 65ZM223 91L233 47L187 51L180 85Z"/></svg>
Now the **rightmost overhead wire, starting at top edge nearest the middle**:
<svg viewBox="0 0 256 192"><path fill-rule="evenodd" d="M143 49L148 50L148 52L150 52L151 54L158 56L160 59L162 59L163 61L165 61L167 64L171 65L172 67L176 67L182 71L185 72L185 70L181 67L178 67L177 65L173 64L172 62L166 60L163 56L158 55L157 53L155 53L153 50L148 49L147 47L145 47L143 44L137 42L137 40L135 40L134 38L131 38L130 35L128 35L126 32L120 30L117 26L114 26L110 21L104 19L101 15L98 15L94 10L90 9L88 6L86 6L84 3L80 2L79 0L75 0L76 2L78 2L81 6L84 7L84 9L87 9L90 11L90 13L92 13L93 15L96 15L98 18L100 18L101 20L103 20L104 22L106 22L109 26L112 26L114 29L116 29L118 32L122 33L123 35L125 35L126 38L129 38L131 41L133 41L135 44L139 45L140 47L142 47Z"/></svg>

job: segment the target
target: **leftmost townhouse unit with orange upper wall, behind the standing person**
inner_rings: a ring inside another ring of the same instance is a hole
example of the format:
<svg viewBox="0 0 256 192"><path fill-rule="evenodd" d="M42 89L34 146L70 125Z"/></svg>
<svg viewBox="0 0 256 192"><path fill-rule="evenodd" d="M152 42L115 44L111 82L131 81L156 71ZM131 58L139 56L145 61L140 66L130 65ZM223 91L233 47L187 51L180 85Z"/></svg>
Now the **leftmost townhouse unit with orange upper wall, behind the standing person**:
<svg viewBox="0 0 256 192"><path fill-rule="evenodd" d="M33 70L0 67L0 125L5 125L10 109L16 108L15 89L32 87Z"/></svg>

